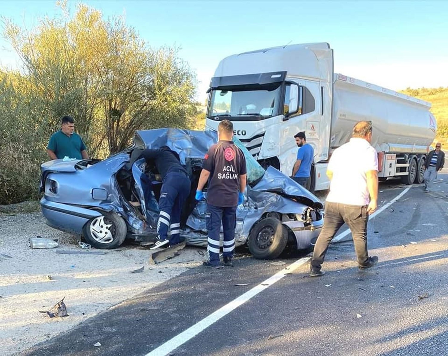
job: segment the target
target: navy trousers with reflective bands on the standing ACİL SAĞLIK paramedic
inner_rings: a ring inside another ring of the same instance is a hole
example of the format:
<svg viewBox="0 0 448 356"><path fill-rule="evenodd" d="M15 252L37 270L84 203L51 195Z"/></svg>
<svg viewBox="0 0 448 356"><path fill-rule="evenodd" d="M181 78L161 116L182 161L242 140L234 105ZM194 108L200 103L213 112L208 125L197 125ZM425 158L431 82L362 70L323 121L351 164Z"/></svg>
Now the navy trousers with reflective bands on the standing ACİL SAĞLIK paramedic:
<svg viewBox="0 0 448 356"><path fill-rule="evenodd" d="M208 262L218 266L220 263L220 232L223 226L224 260L232 259L235 249L235 227L237 225L237 207L220 207L207 204L207 254Z"/></svg>

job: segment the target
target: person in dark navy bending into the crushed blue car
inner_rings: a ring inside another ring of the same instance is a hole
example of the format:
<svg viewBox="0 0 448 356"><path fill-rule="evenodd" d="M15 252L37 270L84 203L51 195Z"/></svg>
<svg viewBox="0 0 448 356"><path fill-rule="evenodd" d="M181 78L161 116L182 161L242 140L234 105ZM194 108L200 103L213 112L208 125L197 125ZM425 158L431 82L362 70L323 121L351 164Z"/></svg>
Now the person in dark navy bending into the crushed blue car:
<svg viewBox="0 0 448 356"><path fill-rule="evenodd" d="M155 162L162 177L159 198L159 221L157 222L157 241L152 249L180 242L182 205L190 194L191 182L187 171L182 167L177 155L168 146L158 150L144 150L141 157L146 162ZM168 240L168 228L171 236Z"/></svg>

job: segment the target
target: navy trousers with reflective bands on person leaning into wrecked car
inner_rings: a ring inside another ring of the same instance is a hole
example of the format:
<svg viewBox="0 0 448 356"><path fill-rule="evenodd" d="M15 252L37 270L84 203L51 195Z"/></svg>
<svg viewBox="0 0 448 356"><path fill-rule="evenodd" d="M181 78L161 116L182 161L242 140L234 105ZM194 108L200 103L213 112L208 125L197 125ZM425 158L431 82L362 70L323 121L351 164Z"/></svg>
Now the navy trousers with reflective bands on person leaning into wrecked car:
<svg viewBox="0 0 448 356"><path fill-rule="evenodd" d="M168 239L170 245L181 242L181 211L182 205L190 194L191 183L184 172L168 172L164 177L159 198L159 221L157 222L157 233L160 240Z"/></svg>

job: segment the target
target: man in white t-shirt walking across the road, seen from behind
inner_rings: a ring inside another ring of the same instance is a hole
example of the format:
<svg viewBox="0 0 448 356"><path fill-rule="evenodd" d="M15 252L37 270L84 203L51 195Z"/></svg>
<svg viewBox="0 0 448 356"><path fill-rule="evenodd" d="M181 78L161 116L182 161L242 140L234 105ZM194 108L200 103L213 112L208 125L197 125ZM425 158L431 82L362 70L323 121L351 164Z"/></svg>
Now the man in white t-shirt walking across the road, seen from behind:
<svg viewBox="0 0 448 356"><path fill-rule="evenodd" d="M359 268L363 270L378 262L378 257L369 257L367 253L367 221L378 201L378 155L370 146L371 140L371 122L360 121L353 127L350 141L337 148L330 158L330 193L323 228L314 246L311 277L324 274L321 268L328 245L344 223L352 232Z"/></svg>

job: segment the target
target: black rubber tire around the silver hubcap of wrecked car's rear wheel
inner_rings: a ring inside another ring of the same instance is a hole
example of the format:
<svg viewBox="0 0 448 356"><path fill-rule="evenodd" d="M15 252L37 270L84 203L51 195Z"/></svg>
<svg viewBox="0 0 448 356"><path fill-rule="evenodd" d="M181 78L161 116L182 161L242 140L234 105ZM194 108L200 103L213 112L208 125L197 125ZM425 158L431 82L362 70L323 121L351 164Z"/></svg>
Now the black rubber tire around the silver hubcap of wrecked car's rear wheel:
<svg viewBox="0 0 448 356"><path fill-rule="evenodd" d="M112 233L113 240L109 243L102 243L95 240L95 238L90 233L90 226L95 222L96 218L90 219L83 228L83 235L86 241L91 244L95 249L116 249L119 247L126 239L127 227L125 220L121 218L118 214L103 212L101 214L104 216L104 222L106 224L112 224L109 230Z"/></svg>

